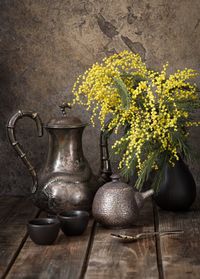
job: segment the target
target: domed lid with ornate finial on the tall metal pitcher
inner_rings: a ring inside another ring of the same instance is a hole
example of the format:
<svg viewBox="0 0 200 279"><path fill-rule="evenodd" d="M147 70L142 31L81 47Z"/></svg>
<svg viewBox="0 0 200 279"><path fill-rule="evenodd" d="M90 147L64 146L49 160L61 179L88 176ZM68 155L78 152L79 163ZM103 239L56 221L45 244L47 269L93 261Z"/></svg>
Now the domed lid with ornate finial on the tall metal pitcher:
<svg viewBox="0 0 200 279"><path fill-rule="evenodd" d="M83 123L78 117L67 115L65 109L71 109L67 103L59 106L62 116L50 119L45 128L79 128L85 127L87 124Z"/></svg>

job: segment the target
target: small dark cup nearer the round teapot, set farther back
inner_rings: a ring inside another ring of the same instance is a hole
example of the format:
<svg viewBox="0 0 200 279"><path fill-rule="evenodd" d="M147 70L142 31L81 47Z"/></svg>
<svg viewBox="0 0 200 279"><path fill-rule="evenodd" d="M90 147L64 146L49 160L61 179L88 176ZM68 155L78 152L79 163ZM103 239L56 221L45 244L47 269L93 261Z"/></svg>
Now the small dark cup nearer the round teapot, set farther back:
<svg viewBox="0 0 200 279"><path fill-rule="evenodd" d="M65 211L58 215L58 219L65 235L81 235L87 227L89 213L81 210Z"/></svg>

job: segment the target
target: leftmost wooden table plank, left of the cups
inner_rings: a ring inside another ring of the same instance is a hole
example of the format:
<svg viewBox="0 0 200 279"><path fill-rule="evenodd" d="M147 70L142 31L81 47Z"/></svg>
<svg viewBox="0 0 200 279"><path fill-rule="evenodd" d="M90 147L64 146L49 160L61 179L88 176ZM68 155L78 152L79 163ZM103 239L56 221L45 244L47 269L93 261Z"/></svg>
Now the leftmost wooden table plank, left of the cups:
<svg viewBox="0 0 200 279"><path fill-rule="evenodd" d="M26 223L38 209L30 199L1 197L0 199L0 277L4 277L14 262L26 237Z"/></svg>

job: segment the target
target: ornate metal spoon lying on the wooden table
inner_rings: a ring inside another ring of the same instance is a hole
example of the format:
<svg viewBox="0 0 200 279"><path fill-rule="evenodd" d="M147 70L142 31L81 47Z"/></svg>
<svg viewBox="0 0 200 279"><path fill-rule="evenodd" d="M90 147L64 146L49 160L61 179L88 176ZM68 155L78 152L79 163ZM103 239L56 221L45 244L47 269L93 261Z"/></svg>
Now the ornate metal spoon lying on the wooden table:
<svg viewBox="0 0 200 279"><path fill-rule="evenodd" d="M111 236L120 240L121 242L132 242L132 241L136 241L141 238L145 238L146 236L154 236L154 235L161 236L161 235L182 234L182 233L184 233L183 230L176 230L176 231L166 231L166 232L143 232L143 233L138 233L134 236L111 233Z"/></svg>

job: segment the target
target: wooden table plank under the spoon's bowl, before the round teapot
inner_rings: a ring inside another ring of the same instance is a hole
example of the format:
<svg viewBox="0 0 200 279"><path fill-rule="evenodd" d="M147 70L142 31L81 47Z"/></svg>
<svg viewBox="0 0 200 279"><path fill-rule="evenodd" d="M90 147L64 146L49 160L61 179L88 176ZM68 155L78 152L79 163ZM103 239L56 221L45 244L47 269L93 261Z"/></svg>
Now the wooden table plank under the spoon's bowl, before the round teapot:
<svg viewBox="0 0 200 279"><path fill-rule="evenodd" d="M108 230L96 228L85 278L158 278L155 238L132 243L120 243L111 238L111 232L136 234L154 231L151 201L141 212L137 225L131 229Z"/></svg>

